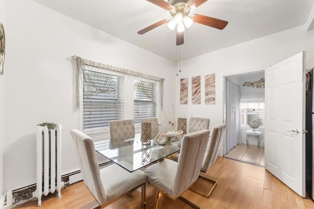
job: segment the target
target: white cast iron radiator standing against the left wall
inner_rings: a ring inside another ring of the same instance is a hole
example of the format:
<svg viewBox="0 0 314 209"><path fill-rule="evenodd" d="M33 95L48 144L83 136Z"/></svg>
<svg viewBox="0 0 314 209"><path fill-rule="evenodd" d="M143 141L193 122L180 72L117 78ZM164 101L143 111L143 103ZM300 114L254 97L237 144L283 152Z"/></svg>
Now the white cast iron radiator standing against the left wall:
<svg viewBox="0 0 314 209"><path fill-rule="evenodd" d="M33 197L38 199L49 192L58 191L57 198L61 198L61 125L54 129L47 126L36 126L37 141L37 183Z"/></svg>

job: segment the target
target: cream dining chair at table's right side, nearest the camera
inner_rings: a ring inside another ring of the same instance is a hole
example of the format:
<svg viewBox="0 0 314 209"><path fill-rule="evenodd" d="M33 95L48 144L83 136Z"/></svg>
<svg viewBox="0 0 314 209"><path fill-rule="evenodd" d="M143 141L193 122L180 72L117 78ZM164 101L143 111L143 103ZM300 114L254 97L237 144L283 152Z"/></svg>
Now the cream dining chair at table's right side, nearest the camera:
<svg viewBox="0 0 314 209"><path fill-rule="evenodd" d="M181 195L198 179L208 136L209 130L186 134L182 139L178 163L165 159L143 170L147 175L149 184L157 189L156 208L162 208L163 194L173 200L181 198L198 208ZM194 151L190 152L190 150Z"/></svg>

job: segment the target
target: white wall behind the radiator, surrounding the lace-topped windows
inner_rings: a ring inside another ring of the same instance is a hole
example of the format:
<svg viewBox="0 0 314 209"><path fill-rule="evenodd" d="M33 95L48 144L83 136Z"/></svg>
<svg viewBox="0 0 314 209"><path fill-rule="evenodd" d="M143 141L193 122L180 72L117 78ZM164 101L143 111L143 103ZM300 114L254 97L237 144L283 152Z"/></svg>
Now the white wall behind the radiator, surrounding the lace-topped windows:
<svg viewBox="0 0 314 209"><path fill-rule="evenodd" d="M42 122L63 127L62 174L78 170L70 137L79 126L72 55L165 78L164 109L172 110L175 63L34 1L1 0L0 13L6 32L4 191L35 183L35 126Z"/></svg>

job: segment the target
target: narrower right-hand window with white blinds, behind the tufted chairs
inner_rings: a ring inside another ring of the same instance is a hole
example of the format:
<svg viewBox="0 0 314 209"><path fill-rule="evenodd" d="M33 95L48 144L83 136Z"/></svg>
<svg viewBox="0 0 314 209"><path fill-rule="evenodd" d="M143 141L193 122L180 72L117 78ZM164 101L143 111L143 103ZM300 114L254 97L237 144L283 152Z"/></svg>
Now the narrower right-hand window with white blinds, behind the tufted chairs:
<svg viewBox="0 0 314 209"><path fill-rule="evenodd" d="M141 118L157 116L156 89L154 81L134 80L134 123Z"/></svg>

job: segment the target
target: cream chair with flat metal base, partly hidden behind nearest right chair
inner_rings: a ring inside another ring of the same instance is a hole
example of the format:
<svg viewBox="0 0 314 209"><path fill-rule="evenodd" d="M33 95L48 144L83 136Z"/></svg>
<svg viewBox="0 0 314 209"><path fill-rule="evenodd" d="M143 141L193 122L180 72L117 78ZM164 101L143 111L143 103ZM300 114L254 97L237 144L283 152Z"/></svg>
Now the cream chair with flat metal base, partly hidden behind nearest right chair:
<svg viewBox="0 0 314 209"><path fill-rule="evenodd" d="M200 178L198 179L198 181L200 182L189 188L191 191L207 198L209 198L209 195L214 189L214 187L217 185L217 182L206 177L204 174L209 170L211 165L215 163L218 157L219 146L221 144L221 141L225 132L225 128L226 128L225 124L219 124L219 125L214 126L211 129L210 136L209 136L209 143L206 148L206 152L205 152L205 156L204 156L204 160L203 160L203 164L201 168L201 173L199 176ZM206 183L202 182L202 180L208 181L209 185L204 186ZM200 189L200 187L202 187L202 190Z"/></svg>

